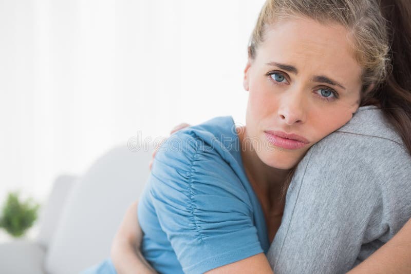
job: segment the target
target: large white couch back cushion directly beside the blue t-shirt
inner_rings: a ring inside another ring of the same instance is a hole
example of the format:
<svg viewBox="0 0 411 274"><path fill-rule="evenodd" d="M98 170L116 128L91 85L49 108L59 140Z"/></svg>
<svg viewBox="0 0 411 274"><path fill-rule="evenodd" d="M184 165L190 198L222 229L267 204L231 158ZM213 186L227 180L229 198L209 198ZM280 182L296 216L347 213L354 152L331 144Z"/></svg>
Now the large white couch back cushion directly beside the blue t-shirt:
<svg viewBox="0 0 411 274"><path fill-rule="evenodd" d="M117 147L73 186L49 246L48 272L78 273L109 256L124 213L139 198L148 177L151 154L150 149L133 152L127 146Z"/></svg>

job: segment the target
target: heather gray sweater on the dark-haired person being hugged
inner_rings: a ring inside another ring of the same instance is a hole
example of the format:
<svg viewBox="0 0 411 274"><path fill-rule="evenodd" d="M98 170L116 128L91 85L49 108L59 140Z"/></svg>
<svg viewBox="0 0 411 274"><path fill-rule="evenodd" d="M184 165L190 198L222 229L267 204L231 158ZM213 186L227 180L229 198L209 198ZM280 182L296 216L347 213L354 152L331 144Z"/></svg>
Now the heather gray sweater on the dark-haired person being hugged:
<svg viewBox="0 0 411 274"><path fill-rule="evenodd" d="M366 115L315 144L298 165L268 252L274 273L345 273L410 218L411 158L381 124L358 130Z"/></svg>

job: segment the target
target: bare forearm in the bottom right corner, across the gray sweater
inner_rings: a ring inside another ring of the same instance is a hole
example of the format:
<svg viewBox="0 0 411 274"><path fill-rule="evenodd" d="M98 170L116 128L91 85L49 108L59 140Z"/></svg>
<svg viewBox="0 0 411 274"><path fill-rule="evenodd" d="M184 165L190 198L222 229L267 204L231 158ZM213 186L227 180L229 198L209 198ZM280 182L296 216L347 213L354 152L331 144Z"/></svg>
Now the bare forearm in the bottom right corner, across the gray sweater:
<svg viewBox="0 0 411 274"><path fill-rule="evenodd" d="M411 272L411 219L400 231L349 274Z"/></svg>

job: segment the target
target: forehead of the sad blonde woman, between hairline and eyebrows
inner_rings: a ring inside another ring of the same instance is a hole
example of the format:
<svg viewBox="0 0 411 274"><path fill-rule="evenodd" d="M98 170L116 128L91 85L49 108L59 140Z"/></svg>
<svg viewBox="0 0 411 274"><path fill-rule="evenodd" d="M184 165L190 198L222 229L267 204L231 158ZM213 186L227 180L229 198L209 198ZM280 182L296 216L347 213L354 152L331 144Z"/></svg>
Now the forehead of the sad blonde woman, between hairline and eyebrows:
<svg viewBox="0 0 411 274"><path fill-rule="evenodd" d="M257 58L292 65L301 74L325 74L342 82L348 77L358 84L361 67L354 59L348 34L340 25L287 19L267 27Z"/></svg>

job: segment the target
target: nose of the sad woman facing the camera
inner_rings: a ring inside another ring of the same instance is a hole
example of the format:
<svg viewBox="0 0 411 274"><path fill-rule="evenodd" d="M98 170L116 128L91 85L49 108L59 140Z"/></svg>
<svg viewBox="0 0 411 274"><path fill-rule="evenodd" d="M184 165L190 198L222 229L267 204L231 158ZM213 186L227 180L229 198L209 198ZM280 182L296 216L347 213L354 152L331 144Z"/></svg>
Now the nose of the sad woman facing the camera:
<svg viewBox="0 0 411 274"><path fill-rule="evenodd" d="M288 90L281 97L278 107L278 116L287 125L302 124L306 120L304 109L304 94L302 90Z"/></svg>

